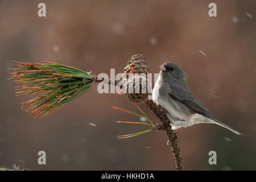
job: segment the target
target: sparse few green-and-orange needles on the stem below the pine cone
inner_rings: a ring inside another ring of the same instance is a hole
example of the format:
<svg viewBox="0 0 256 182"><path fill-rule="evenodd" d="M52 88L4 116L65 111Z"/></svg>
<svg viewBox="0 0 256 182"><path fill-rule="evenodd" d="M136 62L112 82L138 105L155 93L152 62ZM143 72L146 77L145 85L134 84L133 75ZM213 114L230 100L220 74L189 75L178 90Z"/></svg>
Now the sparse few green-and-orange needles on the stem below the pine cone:
<svg viewBox="0 0 256 182"><path fill-rule="evenodd" d="M133 134L119 135L119 136L117 136L118 139L125 139L125 138L135 137L135 136L138 136L138 135L146 134L146 133L148 133L148 132L150 132L150 131L155 129L155 123L142 111L142 109L137 104L135 104L134 102L133 102L133 104L137 107L137 109L139 111L141 111L142 115L134 113L134 112L129 111L129 110L121 109L121 108L115 107L115 106L113 106L113 109L117 109L117 110L123 111L125 113L129 113L129 114L137 115L138 117L146 119L150 123L132 122L132 121L117 121L117 123L129 123L129 124L147 125L147 126L151 126L152 129L141 131L141 132L138 132L138 133L133 133Z"/></svg>

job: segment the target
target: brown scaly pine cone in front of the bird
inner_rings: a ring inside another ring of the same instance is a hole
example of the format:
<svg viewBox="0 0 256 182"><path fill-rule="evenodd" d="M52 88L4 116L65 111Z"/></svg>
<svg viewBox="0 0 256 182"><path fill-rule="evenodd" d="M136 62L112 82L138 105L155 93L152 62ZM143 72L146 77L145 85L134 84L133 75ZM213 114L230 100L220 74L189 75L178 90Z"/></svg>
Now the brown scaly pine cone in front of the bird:
<svg viewBox="0 0 256 182"><path fill-rule="evenodd" d="M133 75L131 74L131 69ZM148 99L147 84L150 81L147 79L148 67L145 57L143 55L132 56L124 71L124 86L128 100L133 102L146 101Z"/></svg>

